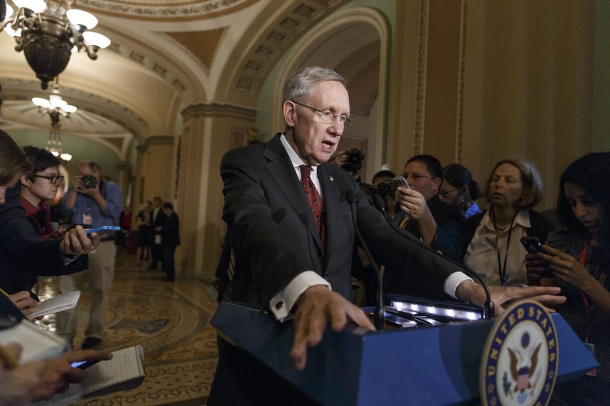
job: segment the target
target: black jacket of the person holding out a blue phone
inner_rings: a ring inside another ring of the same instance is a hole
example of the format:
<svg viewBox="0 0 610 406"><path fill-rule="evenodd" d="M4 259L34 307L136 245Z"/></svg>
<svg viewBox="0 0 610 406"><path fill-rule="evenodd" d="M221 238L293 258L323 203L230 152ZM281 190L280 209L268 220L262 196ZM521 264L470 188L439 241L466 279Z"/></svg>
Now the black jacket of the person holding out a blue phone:
<svg viewBox="0 0 610 406"><path fill-rule="evenodd" d="M30 290L37 276L59 276L84 271L88 256L68 264L59 251L60 238L43 240L34 231L21 206L21 183L6 190L0 205L0 288L6 293Z"/></svg>

